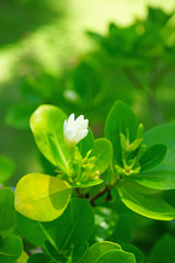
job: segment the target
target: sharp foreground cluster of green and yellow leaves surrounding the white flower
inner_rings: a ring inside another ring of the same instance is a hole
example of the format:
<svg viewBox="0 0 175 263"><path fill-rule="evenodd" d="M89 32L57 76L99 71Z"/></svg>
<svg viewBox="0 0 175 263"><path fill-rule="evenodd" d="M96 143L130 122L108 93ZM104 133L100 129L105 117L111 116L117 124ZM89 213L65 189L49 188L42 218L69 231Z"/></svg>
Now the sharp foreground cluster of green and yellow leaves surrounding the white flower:
<svg viewBox="0 0 175 263"><path fill-rule="evenodd" d="M15 196L10 188L0 188L0 261L142 263L139 249L115 242L118 211L106 206L120 197L142 216L165 221L175 218L173 206L161 197L162 191L175 188L175 125L161 125L144 135L130 107L117 101L105 124L105 138L94 139L90 130L70 150L63 138L66 118L52 105L39 106L31 117L36 145L55 173L23 176ZM96 207L103 195L106 203ZM16 229L42 252L28 258ZM160 259L165 243L173 256L174 242L165 236L149 262Z"/></svg>

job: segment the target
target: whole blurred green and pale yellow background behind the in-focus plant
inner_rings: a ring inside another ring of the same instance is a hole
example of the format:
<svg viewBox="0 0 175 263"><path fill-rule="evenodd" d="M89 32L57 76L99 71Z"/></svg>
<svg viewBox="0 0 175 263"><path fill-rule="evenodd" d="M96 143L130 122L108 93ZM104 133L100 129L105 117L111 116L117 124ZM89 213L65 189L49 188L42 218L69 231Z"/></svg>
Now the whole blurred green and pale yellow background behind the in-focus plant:
<svg viewBox="0 0 175 263"><path fill-rule="evenodd" d="M14 171L10 185L49 171L28 124L42 103L84 114L96 137L117 99L145 129L175 121L174 11L174 0L0 1L0 155L14 162L3 161ZM165 198L173 204L174 192ZM129 229L127 216L119 232ZM175 233L174 221L133 219L143 250Z"/></svg>

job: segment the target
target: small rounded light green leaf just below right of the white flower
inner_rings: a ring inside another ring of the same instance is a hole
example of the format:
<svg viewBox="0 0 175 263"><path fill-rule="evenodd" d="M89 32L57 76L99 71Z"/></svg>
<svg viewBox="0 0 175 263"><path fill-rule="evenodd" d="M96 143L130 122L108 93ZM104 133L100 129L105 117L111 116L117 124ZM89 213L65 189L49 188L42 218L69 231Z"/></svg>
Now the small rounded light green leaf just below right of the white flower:
<svg viewBox="0 0 175 263"><path fill-rule="evenodd" d="M94 140L94 147L92 149L90 158L91 157L95 157L94 172L98 170L102 174L108 168L113 158L113 147L110 141L105 138Z"/></svg>

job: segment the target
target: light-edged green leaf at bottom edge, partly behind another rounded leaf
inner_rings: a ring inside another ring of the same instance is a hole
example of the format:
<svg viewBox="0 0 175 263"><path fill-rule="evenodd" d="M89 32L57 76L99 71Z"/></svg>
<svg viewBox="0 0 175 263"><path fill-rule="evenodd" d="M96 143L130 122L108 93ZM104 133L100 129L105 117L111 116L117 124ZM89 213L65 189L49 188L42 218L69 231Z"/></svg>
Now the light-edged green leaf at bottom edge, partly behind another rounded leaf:
<svg viewBox="0 0 175 263"><path fill-rule="evenodd" d="M80 263L95 263L96 260L104 254L107 251L110 250L121 250L119 244L109 242L109 241L103 241L94 243L88 252L84 254Z"/></svg>

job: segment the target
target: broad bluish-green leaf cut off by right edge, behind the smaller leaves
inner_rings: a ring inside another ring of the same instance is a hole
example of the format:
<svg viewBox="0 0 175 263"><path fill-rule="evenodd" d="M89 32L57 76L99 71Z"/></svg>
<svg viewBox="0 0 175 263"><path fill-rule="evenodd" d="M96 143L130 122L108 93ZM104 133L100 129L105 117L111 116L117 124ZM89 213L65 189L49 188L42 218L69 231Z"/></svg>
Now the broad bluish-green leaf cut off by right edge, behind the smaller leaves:
<svg viewBox="0 0 175 263"><path fill-rule="evenodd" d="M144 135L147 148L156 144L163 144L167 147L166 158L163 160L159 170L175 170L175 124L163 124L156 126Z"/></svg>

